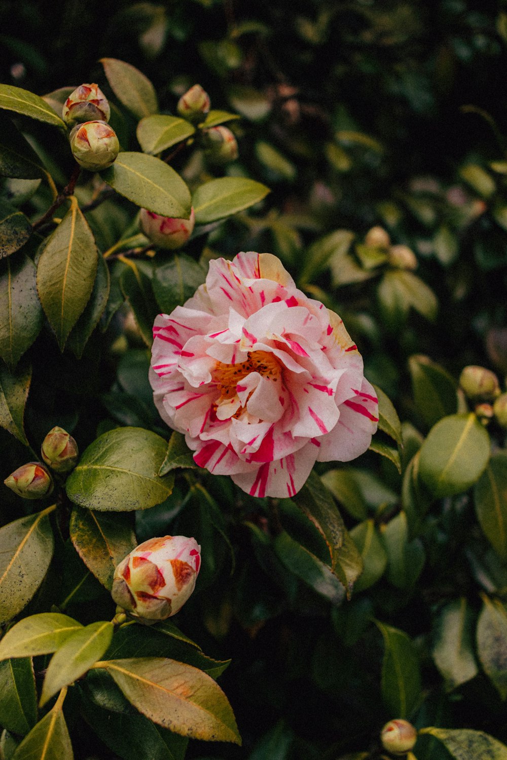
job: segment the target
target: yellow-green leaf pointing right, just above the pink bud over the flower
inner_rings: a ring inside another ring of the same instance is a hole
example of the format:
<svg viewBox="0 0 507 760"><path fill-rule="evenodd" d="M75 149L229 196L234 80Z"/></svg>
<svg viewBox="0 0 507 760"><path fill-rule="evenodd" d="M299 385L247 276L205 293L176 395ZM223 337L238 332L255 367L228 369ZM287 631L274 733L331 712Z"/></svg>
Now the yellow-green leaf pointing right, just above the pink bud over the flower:
<svg viewBox="0 0 507 760"><path fill-rule="evenodd" d="M220 177L204 182L192 195L196 224L208 224L253 206L269 188L244 177Z"/></svg>

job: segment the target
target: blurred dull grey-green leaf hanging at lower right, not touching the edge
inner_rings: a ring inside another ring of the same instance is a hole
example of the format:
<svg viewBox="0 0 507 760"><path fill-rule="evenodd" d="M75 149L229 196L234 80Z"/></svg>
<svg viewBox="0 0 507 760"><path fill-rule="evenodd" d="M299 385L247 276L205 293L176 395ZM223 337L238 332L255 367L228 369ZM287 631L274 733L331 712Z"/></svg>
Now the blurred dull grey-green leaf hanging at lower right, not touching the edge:
<svg viewBox="0 0 507 760"><path fill-rule="evenodd" d="M472 623L471 609L464 597L446 604L439 613L432 654L447 689L461 686L479 672Z"/></svg>

